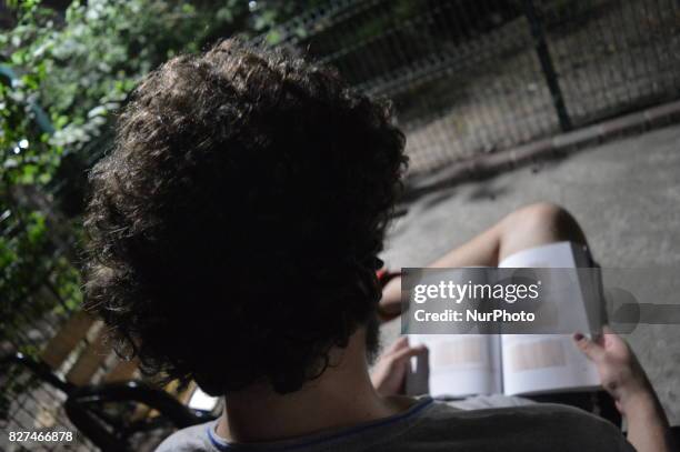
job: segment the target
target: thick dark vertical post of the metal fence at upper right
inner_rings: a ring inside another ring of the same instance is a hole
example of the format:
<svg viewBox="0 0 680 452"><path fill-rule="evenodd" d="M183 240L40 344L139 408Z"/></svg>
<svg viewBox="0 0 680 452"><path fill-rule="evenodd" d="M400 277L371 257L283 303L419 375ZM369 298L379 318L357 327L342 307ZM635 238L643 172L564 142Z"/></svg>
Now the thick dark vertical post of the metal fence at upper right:
<svg viewBox="0 0 680 452"><path fill-rule="evenodd" d="M569 131L572 128L571 118L569 118L569 112L567 111L567 106L564 104L562 89L560 88L554 64L552 63L552 57L550 56L550 50L548 49L543 26L536 10L536 6L533 4L533 0L524 0L523 4L524 13L529 20L529 26L531 27L531 36L533 37L536 52L539 61L541 62L543 77L546 78L546 83L548 83L548 89L550 90L550 96L552 97L552 103L560 121L560 127L562 131Z"/></svg>

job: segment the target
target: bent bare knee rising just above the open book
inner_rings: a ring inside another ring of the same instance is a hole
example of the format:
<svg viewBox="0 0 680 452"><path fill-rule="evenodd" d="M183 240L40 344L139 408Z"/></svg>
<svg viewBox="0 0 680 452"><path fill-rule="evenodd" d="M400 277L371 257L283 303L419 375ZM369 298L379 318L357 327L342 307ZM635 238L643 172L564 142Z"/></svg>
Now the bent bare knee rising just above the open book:
<svg viewBox="0 0 680 452"><path fill-rule="evenodd" d="M501 258L560 241L587 244L583 231L571 213L551 202L520 208L506 217L501 224Z"/></svg>

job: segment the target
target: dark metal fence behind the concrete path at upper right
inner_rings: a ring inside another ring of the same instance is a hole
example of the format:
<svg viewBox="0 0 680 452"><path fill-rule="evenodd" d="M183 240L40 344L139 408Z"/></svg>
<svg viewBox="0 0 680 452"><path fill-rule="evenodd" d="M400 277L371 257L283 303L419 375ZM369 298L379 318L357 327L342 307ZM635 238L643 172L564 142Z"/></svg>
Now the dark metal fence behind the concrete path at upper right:
<svg viewBox="0 0 680 452"><path fill-rule="evenodd" d="M412 173L680 93L676 0L344 0L274 33L393 100Z"/></svg>

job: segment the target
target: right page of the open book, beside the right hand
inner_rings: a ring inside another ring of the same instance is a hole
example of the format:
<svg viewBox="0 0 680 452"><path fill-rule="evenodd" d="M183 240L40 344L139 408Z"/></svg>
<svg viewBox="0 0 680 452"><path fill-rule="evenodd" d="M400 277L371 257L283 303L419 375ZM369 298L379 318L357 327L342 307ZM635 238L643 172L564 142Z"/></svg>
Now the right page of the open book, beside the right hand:
<svg viewBox="0 0 680 452"><path fill-rule="evenodd" d="M570 242L552 243L509 257L503 268L566 268L588 265L586 251ZM563 288L560 303L569 303L568 324L589 331L589 312L574 270L573 287ZM588 292L591 293L591 292ZM592 303L590 303L592 304ZM567 319L566 319L567 320ZM502 334L503 392L508 395L562 392L596 388L600 384L592 364L566 334Z"/></svg>

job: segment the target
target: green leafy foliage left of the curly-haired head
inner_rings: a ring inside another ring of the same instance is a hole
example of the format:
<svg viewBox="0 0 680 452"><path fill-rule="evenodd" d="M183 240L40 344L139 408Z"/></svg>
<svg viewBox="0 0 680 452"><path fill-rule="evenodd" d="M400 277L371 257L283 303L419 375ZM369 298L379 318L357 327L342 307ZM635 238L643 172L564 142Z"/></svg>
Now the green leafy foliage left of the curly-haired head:
<svg viewBox="0 0 680 452"><path fill-rule="evenodd" d="M27 324L80 304L87 168L109 148L132 87L172 56L267 33L297 10L274 0L8 4L17 20L0 33L0 340L28 350Z"/></svg>

